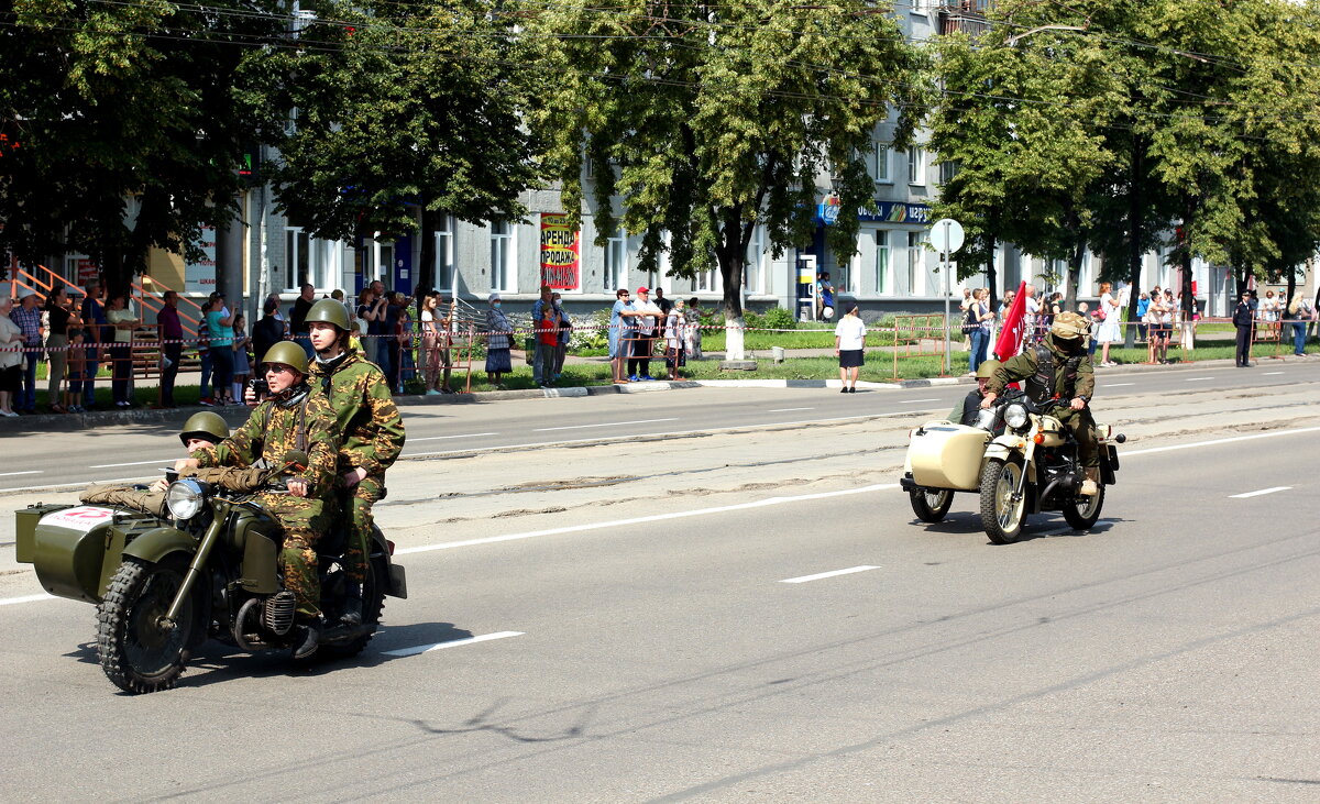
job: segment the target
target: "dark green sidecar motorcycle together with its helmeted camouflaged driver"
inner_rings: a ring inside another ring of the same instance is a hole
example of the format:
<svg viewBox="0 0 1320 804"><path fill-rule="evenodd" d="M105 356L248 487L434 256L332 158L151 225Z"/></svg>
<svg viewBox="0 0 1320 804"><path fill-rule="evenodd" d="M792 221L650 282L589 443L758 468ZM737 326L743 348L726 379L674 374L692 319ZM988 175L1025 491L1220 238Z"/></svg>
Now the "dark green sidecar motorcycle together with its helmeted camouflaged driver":
<svg viewBox="0 0 1320 804"><path fill-rule="evenodd" d="M331 482L333 417L305 384L286 382L306 368L301 349L280 343L265 358L273 397L234 436L194 453L227 466L172 470L169 520L103 506L17 512L17 560L34 564L50 594L98 605L96 652L127 692L173 687L207 638L296 657L355 655L378 628L384 595L407 597L393 545L372 529L362 622L338 623L347 532L315 496ZM337 623L325 631L322 611Z"/></svg>

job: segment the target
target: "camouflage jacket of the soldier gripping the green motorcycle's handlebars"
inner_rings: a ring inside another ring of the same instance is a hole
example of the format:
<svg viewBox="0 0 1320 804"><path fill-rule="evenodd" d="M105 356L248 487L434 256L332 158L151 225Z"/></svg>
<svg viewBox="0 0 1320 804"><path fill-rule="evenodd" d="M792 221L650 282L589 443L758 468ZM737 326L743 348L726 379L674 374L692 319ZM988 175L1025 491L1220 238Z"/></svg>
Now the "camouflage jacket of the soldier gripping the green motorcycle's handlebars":
<svg viewBox="0 0 1320 804"><path fill-rule="evenodd" d="M319 393L308 392L288 407L268 399L252 409L232 436L194 452L193 457L202 467L252 466L263 459L280 466L285 453L300 449L308 453L308 469L294 478L308 482L308 496L327 498L334 492L337 432L334 413Z"/></svg>

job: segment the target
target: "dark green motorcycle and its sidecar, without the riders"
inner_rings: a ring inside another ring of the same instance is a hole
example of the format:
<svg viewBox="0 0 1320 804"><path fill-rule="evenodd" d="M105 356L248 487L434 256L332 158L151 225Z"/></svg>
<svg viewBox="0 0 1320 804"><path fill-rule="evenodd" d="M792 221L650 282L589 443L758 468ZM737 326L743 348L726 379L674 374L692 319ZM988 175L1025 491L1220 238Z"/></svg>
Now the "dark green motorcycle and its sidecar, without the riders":
<svg viewBox="0 0 1320 804"><path fill-rule="evenodd" d="M285 470L306 455L289 453ZM288 650L294 597L279 565L281 528L256 502L282 490L280 473L201 469L166 474L168 516L127 507L37 504L17 511L17 560L53 595L96 605L102 669L131 693L169 689L207 639L243 651ZM317 656L355 656L380 623L384 597L407 598L393 544L372 528L360 624L339 623L347 599L346 516L322 536L321 606L330 623Z"/></svg>

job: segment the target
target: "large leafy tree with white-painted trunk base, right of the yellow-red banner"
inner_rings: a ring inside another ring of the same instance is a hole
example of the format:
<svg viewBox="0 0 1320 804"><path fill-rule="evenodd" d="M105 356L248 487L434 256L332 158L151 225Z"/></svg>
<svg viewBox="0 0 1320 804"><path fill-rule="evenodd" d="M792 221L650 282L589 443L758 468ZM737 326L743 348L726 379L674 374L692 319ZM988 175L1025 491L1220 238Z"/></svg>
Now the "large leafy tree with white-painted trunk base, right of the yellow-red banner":
<svg viewBox="0 0 1320 804"><path fill-rule="evenodd" d="M532 123L566 211L578 219L589 206L601 246L620 222L640 234L644 271L663 252L671 276L718 265L730 355L741 356L756 224L776 253L805 244L826 174L843 210L874 207L865 154L875 124L896 106L896 145L911 139L925 59L892 13L861 0L623 0L609 9L570 0L540 12L528 36L554 81ZM840 259L855 253L858 228L851 214L826 227Z"/></svg>

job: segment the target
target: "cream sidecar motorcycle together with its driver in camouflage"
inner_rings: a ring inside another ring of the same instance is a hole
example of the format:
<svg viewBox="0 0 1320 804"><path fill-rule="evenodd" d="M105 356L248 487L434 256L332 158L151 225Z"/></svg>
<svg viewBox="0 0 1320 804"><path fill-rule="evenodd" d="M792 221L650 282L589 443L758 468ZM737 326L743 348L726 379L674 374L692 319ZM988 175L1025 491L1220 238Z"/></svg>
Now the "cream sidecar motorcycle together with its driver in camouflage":
<svg viewBox="0 0 1320 804"><path fill-rule="evenodd" d="M960 405L962 424L936 421L912 432L902 487L919 519L940 521L954 491L972 491L997 544L1016 541L1027 514L1061 511L1077 529L1096 524L1105 486L1117 479L1114 444L1125 438L1090 417L1088 333L1081 316L1057 316L1036 349L978 378L981 400L973 392ZM1026 393L1006 391L1022 380Z"/></svg>

